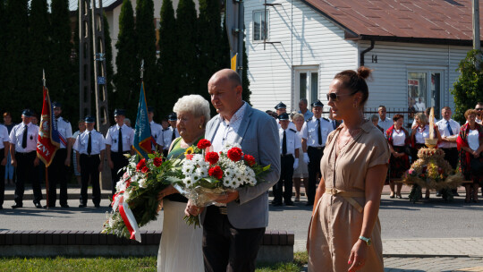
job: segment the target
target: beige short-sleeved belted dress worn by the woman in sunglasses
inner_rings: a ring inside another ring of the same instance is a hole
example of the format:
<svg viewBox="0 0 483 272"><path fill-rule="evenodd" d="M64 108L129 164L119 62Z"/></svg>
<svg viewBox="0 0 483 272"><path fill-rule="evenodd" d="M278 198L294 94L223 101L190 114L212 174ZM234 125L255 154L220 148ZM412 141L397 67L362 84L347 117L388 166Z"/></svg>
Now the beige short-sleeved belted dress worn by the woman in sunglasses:
<svg viewBox="0 0 483 272"><path fill-rule="evenodd" d="M389 162L384 135L367 120L335 157L335 142L342 128L343 124L329 134L320 163L326 193L318 200L309 226L309 271L345 272L350 268L347 262L362 228L366 174L370 167ZM384 271L378 218L370 238L366 264L359 271Z"/></svg>

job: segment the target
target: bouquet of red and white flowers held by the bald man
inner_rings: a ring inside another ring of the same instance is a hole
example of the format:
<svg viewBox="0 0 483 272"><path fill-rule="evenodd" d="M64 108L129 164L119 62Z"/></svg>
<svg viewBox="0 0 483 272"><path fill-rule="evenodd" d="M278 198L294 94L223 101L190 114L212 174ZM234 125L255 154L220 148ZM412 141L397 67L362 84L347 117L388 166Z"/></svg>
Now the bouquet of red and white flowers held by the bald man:
<svg viewBox="0 0 483 272"><path fill-rule="evenodd" d="M209 140L199 140L197 148L187 149L185 159L175 161L177 174L170 181L182 187L178 190L198 207L224 205L216 202L220 196L244 186L263 182L270 166L259 166L255 157L243 154L239 145L225 144L219 153L208 151ZM199 154L200 153L200 154ZM185 217L189 225L199 225L199 217Z"/></svg>

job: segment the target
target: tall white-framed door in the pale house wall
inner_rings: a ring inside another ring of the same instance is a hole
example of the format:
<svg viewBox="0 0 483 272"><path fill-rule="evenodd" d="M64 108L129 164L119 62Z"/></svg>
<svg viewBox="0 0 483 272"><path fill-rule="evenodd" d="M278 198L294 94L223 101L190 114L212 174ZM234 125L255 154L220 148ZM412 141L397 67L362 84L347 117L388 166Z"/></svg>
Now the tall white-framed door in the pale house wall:
<svg viewBox="0 0 483 272"><path fill-rule="evenodd" d="M295 69L295 86L292 108L299 109L299 101L306 98L310 108L312 102L318 100L318 67Z"/></svg>

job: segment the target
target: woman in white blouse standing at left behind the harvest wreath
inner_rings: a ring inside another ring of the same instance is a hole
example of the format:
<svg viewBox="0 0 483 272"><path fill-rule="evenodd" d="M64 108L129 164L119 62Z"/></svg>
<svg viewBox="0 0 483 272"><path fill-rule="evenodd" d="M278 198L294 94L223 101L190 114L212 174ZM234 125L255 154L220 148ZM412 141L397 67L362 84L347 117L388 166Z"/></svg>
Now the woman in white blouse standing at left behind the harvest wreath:
<svg viewBox="0 0 483 272"><path fill-rule="evenodd" d="M418 151L426 147L425 140L429 138L429 125L428 125L428 116L419 113L414 117L414 121L418 124L417 127L412 129L411 132L411 142L412 142L412 161L416 161L418 159ZM437 127L436 127L437 128ZM441 141L441 134L439 134L439 130L434 130L435 135L433 135L434 139ZM429 199L429 189L426 189L426 197L427 200Z"/></svg>

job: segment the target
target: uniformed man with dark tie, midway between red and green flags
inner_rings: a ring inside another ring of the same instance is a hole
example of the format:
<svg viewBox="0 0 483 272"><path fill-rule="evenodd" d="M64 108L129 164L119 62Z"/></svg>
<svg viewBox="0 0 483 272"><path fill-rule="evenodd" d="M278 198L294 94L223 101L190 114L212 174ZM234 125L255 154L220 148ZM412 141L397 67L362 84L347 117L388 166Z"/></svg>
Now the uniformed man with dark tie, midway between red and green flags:
<svg viewBox="0 0 483 272"><path fill-rule="evenodd" d="M92 184L92 202L94 202L94 207L100 208L99 172L104 167L106 144L104 136L94 129L94 118L86 116L84 122L86 131L77 137L73 145L73 149L76 151L75 156L79 162L77 171L80 173L82 183L79 208L87 207L89 178Z"/></svg>

